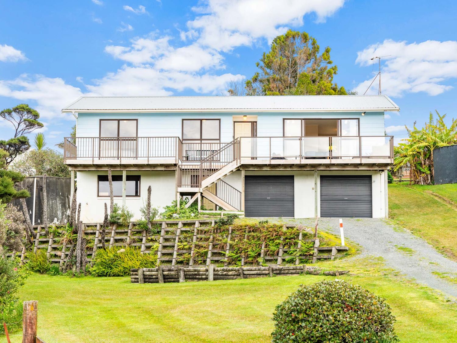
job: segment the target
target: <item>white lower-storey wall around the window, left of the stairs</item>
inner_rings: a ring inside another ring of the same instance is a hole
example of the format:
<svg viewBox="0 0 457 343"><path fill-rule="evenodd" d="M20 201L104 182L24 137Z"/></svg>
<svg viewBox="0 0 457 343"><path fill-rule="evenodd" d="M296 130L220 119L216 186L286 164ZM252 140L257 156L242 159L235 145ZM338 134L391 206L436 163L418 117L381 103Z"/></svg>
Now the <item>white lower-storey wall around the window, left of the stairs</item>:
<svg viewBox="0 0 457 343"><path fill-rule="evenodd" d="M83 223L101 223L104 216L104 203L110 206L109 197L97 196L97 175L107 175L107 171L78 171L76 199L81 203ZM122 175L122 171L113 171L113 175ZM140 197L126 197L126 206L135 214L133 220L141 219L139 212L146 203L149 185L152 188L151 204L153 207L170 205L176 198L175 171L127 171L127 175L140 175ZM122 197L115 197L114 202L122 206Z"/></svg>

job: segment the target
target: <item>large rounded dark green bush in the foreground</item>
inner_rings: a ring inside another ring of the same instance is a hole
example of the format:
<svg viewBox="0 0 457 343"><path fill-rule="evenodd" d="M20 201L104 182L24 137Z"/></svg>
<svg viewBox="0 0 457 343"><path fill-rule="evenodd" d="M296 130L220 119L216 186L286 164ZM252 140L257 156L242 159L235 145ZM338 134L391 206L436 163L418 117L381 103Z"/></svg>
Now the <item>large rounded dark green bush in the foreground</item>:
<svg viewBox="0 0 457 343"><path fill-rule="evenodd" d="M301 285L273 314L272 342L398 342L384 300L345 281Z"/></svg>

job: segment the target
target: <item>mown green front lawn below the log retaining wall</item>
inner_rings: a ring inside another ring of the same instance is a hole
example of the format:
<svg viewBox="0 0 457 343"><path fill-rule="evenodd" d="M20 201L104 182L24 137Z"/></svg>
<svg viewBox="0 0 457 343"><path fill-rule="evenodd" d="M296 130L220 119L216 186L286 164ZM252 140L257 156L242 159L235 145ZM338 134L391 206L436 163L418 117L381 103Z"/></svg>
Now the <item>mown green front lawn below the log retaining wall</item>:
<svg viewBox="0 0 457 343"><path fill-rule="evenodd" d="M379 261L352 261L319 265L351 269L356 275L339 278L386 298L402 342L455 342L455 304L383 269ZM269 342L275 305L299 284L324 279L334 278L300 275L140 285L129 278L33 274L20 297L38 300L38 334L46 342ZM21 340L17 333L13 343Z"/></svg>

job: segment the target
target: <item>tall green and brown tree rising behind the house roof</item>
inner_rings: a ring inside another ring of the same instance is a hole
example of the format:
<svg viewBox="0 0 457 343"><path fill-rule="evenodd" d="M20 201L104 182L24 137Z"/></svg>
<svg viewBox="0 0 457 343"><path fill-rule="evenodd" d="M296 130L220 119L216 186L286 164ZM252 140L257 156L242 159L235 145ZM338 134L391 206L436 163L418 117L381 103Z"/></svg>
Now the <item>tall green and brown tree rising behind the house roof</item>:
<svg viewBox="0 0 457 343"><path fill-rule="evenodd" d="M260 71L245 82L246 95L347 95L333 83L338 67L330 59L330 48L320 53L316 39L306 32L288 30L277 36L256 66Z"/></svg>

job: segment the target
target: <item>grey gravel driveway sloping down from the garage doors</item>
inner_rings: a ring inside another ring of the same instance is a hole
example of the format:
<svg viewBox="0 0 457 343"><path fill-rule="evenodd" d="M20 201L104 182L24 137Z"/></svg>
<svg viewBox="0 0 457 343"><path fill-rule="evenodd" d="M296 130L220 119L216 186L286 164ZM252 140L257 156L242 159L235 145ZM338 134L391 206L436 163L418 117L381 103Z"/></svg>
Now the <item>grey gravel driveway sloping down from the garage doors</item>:
<svg viewBox="0 0 457 343"><path fill-rule="evenodd" d="M307 226L314 226L314 220L304 221L305 223L300 220ZM345 237L361 245L362 255L383 257L389 267L399 270L407 277L457 298L457 284L432 274L439 272L457 275L457 262L441 255L422 238L382 219L344 218L343 223ZM340 236L338 219L319 219L319 229ZM406 247L414 252L405 252L398 247Z"/></svg>

